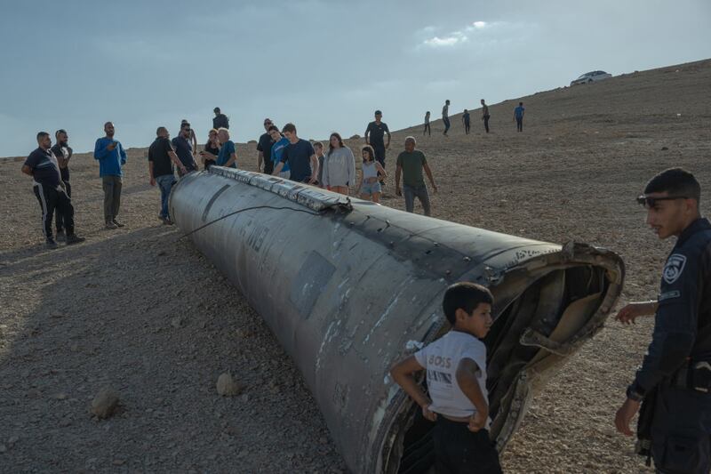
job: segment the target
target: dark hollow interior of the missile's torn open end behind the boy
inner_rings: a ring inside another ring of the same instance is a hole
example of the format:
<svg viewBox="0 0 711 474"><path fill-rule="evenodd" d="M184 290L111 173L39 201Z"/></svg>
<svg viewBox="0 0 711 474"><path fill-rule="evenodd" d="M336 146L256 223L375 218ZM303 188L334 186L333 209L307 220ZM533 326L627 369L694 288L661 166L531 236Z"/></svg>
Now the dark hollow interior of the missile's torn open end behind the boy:
<svg viewBox="0 0 711 474"><path fill-rule="evenodd" d="M518 298L495 315L491 331L484 339L493 436L497 416L508 409L507 393L516 375L524 366L549 354L546 349L521 345L522 333L531 328L552 341L567 341L595 314L608 285L604 269L599 267L556 269L532 281ZM442 333L448 330L449 327L444 327ZM387 456L386 472L434 472L435 423L425 420L419 406L410 400L401 407L400 414L393 427L398 432L391 433L395 443Z"/></svg>

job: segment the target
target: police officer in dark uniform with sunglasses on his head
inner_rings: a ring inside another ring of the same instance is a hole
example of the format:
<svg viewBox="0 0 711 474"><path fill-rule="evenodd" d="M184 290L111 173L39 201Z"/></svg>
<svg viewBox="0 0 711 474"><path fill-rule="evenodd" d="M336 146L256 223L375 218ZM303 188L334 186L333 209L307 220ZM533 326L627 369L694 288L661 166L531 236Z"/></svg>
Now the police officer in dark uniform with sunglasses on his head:
<svg viewBox="0 0 711 474"><path fill-rule="evenodd" d="M700 216L700 196L699 181L672 168L652 178L637 198L659 238L677 240L658 300L630 303L617 315L629 324L655 314L650 347L615 425L631 436L629 423L643 402L638 437L649 443L660 472L711 470L711 223ZM648 437L641 436L645 420Z"/></svg>

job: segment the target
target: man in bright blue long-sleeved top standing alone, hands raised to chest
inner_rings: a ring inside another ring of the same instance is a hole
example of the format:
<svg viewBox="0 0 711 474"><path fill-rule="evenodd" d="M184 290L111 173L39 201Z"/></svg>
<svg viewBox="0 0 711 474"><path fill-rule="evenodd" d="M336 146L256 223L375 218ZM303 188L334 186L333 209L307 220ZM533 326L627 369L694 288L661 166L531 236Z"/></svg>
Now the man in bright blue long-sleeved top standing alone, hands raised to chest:
<svg viewBox="0 0 711 474"><path fill-rule="evenodd" d="M121 143L114 140L114 124L104 124L105 137L96 141L94 158L99 160L99 175L104 189L104 221L107 229L124 227L116 221L121 205L121 166L126 164L126 152Z"/></svg>

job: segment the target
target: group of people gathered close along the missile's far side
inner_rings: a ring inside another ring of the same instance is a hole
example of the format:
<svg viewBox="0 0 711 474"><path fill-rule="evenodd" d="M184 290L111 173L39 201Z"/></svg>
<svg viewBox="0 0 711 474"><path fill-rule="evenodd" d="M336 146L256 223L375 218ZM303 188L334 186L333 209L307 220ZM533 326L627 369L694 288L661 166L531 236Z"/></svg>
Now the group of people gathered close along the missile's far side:
<svg viewBox="0 0 711 474"><path fill-rule="evenodd" d="M220 108L215 108L215 115L213 125L228 125L228 117L220 113ZM296 125L286 124L280 130L269 118L264 119L265 132L257 141L257 170L346 196L356 185L356 196L379 203L387 182L385 163L391 135L387 124L382 121L380 110L375 111L374 118L365 130L365 144L361 147L363 164L359 175L356 156L343 142L340 133L331 134L326 148L320 141L311 143L301 139ZM199 152L196 151L196 142L191 143L191 137L195 134L188 121L183 120L179 136L172 141L168 140L165 127L156 130L156 141L148 149L148 172L151 184L157 184L161 190L159 218L165 224L172 224L167 202L172 185L177 182L173 177L173 167L178 169L179 177L196 171L198 156L202 158L203 169L209 169L212 165L237 167L236 146L230 140L228 126L212 128L204 149ZM395 194L404 196L408 212L413 212L417 197L425 214L431 215L423 171L435 192L437 188L427 158L415 149L416 144L414 137L407 137L403 152L397 157Z"/></svg>

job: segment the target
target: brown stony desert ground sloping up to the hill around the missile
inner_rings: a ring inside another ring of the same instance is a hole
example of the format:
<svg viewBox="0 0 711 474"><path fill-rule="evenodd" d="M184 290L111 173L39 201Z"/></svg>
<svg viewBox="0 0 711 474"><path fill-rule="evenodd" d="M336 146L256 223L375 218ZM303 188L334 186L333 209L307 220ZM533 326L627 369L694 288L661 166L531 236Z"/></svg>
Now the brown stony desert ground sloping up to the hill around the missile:
<svg viewBox="0 0 711 474"><path fill-rule="evenodd" d="M523 133L512 121L519 99L491 106L488 135L478 109L468 136L459 116L449 138L435 121L432 136L419 140L440 187L434 215L609 247L627 263L619 307L654 297L673 243L645 229L634 197L673 165L711 192L708 84L711 61L702 61L540 92L520 99ZM392 175L409 133L394 133L387 159L383 204L400 209ZM255 138L236 131L238 141ZM255 169L253 147L238 147L241 167ZM30 179L20 163L0 161L0 471L345 471L268 327L177 229L157 220L144 153L129 152L127 225L113 231L102 229L98 165L90 155L72 159L77 229L87 242L55 251L44 249ZM610 321L535 398L502 457L505 469L643 471L612 418L650 334L649 320ZM242 395L217 395L225 371L244 385ZM107 384L122 406L97 421L88 405Z"/></svg>

